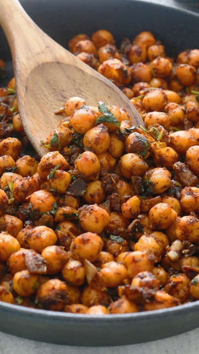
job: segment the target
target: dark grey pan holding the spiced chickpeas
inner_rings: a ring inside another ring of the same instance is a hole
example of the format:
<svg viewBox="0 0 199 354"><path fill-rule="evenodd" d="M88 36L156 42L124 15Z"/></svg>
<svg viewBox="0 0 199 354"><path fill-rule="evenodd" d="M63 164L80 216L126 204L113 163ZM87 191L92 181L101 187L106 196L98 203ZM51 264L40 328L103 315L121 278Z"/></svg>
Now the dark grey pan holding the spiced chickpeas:
<svg viewBox="0 0 199 354"><path fill-rule="evenodd" d="M106 28L118 43L150 30L170 56L198 48L199 15L136 0L21 0L30 17L67 47L75 34ZM20 25L20 24L19 24ZM0 30L0 57L12 77L11 55ZM39 84L39 82L38 82ZM96 88L97 90L97 88ZM30 309L0 302L0 331L43 342L75 346L118 346L170 337L199 327L199 301L135 314L91 316Z"/></svg>

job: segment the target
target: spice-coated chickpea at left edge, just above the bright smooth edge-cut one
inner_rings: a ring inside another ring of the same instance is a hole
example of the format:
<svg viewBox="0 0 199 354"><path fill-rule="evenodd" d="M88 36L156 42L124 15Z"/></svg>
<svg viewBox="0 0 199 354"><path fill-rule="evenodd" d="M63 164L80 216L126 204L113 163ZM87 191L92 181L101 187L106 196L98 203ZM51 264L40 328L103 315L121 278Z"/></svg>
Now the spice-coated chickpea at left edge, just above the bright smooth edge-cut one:
<svg viewBox="0 0 199 354"><path fill-rule="evenodd" d="M18 232L23 228L23 222L16 216L4 214L0 217L0 227L11 236L16 237Z"/></svg>

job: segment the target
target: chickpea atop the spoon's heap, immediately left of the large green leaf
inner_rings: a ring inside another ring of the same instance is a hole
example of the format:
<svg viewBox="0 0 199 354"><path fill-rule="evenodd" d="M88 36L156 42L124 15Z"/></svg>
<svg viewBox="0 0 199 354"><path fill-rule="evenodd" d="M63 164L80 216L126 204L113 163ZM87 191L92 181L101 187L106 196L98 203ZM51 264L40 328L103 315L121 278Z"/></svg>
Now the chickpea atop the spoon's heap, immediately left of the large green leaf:
<svg viewBox="0 0 199 354"><path fill-rule="evenodd" d="M96 123L97 116L91 108L80 108L76 110L70 117L70 124L73 129L80 133L85 134L88 130L93 128Z"/></svg>

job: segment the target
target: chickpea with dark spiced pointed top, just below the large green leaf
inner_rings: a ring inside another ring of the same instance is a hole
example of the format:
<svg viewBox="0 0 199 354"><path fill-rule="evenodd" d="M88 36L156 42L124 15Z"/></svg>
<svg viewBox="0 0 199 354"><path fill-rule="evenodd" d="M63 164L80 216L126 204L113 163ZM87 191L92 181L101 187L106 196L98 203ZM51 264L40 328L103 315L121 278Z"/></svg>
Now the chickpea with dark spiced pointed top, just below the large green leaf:
<svg viewBox="0 0 199 354"><path fill-rule="evenodd" d="M109 147L108 128L103 124L88 130L84 135L84 147L91 148L95 154L103 154Z"/></svg>

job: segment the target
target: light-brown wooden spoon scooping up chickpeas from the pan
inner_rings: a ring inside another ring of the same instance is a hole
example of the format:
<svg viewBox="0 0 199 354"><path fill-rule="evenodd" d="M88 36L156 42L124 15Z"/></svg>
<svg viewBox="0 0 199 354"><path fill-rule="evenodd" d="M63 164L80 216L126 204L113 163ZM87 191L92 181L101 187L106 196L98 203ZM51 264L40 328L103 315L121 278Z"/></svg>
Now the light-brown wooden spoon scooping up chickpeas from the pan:
<svg viewBox="0 0 199 354"><path fill-rule="evenodd" d="M54 114L69 97L86 104L126 108L132 125L143 120L129 99L108 79L57 44L32 21L18 0L0 0L0 24L12 52L17 101L25 133L35 150L61 120ZM49 19L50 21L50 19Z"/></svg>

